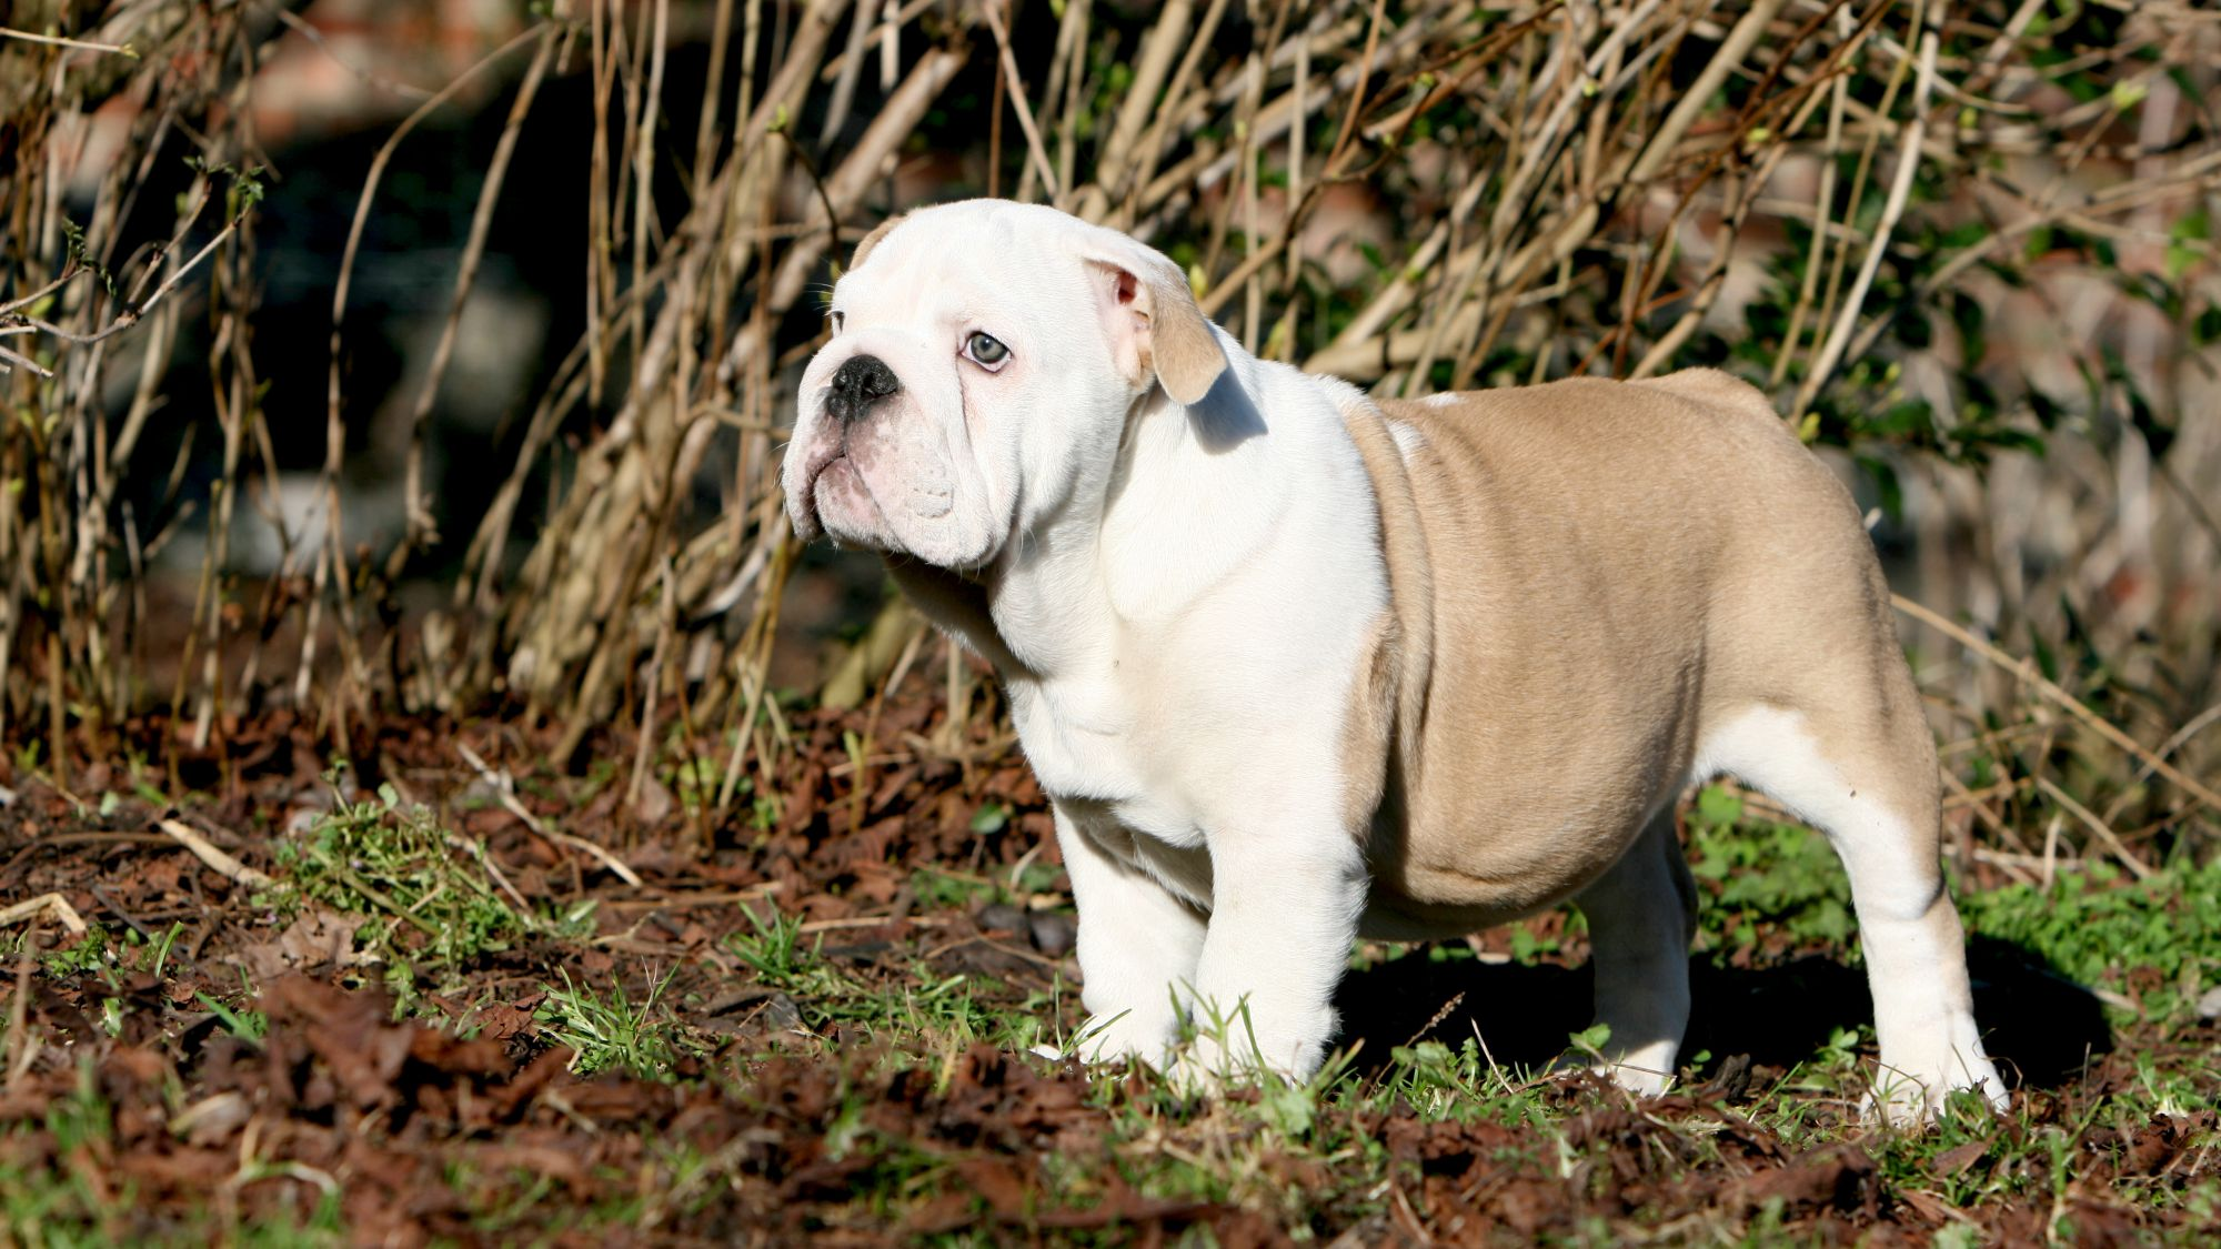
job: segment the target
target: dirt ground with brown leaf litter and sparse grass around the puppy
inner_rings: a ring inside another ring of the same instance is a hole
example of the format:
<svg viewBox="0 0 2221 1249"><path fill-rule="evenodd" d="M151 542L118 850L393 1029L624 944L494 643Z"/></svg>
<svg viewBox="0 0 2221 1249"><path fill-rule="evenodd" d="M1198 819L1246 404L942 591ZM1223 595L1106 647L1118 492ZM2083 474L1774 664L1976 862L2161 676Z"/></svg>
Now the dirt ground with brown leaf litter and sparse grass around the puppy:
<svg viewBox="0 0 2221 1249"><path fill-rule="evenodd" d="M571 778L515 722L380 725L340 785L431 807L535 916L460 953L380 913L369 851L355 909L302 885L284 845L333 787L289 713L198 753L135 725L69 793L7 765L0 905L60 893L91 931L0 929L0 1242L2112 1245L2221 1216L2221 1029L2121 1022L1994 940L2017 1107L1921 1136L1857 1122L1848 951L1763 925L1695 960L1697 1065L1661 1100L1519 1073L1586 1022L1564 916L1375 951L1315 1089L1197 1100L1026 1053L1077 1022L1048 816L1013 751L931 758L926 720L800 716L784 793L706 856L700 767L629 793L626 740Z"/></svg>

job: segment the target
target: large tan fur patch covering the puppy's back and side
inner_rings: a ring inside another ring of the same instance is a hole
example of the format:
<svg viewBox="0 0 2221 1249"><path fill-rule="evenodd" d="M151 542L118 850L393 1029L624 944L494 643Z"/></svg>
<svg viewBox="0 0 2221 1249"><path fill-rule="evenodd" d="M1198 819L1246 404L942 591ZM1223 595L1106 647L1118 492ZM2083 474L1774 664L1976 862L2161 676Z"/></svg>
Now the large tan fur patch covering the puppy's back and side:
<svg viewBox="0 0 2221 1249"><path fill-rule="evenodd" d="M1457 931L1579 891L1672 802L1704 727L1755 702L1934 827L1872 547L1763 396L1677 373L1364 407L1344 418L1401 631L1393 776L1366 785L1399 800L1377 905ZM1359 676L1353 722L1366 698Z"/></svg>

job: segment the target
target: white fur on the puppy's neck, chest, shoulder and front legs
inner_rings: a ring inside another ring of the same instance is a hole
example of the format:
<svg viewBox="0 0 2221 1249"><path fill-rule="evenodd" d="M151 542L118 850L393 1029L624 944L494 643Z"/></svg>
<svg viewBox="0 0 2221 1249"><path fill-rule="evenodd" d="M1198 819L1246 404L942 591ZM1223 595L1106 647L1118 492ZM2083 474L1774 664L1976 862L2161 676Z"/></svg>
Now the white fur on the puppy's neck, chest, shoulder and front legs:
<svg viewBox="0 0 2221 1249"><path fill-rule="evenodd" d="M1366 893L1339 742L1386 578L1350 524L1366 478L1339 411L1293 369L1235 360L1270 438L1213 453L1190 413L1144 400L1099 487L1102 540L1073 509L997 567L993 613L1013 647L1055 640L1006 687L1066 860L1106 865L1073 880L1104 938L1084 938L1084 1002L1126 1013L1099 1049L1155 1058L1179 993L1202 1018L1246 1009L1244 1049L1253 1033L1268 1065L1310 1071ZM1166 942L1162 907L1133 898L1148 887L1208 909L1202 940Z"/></svg>

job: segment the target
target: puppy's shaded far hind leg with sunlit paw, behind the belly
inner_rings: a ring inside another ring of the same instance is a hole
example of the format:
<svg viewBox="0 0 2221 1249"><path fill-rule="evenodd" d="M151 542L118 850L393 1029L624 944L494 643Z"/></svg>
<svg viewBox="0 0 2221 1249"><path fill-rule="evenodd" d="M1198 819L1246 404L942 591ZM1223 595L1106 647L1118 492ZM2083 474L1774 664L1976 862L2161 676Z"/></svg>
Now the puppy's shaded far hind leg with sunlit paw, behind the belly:
<svg viewBox="0 0 2221 1249"><path fill-rule="evenodd" d="M1595 947L1597 1022L1612 1029L1604 1045L1608 1073L1624 1089L1664 1093L1688 1029L1688 940L1697 922L1697 885L1672 829L1672 805L1575 902Z"/></svg>

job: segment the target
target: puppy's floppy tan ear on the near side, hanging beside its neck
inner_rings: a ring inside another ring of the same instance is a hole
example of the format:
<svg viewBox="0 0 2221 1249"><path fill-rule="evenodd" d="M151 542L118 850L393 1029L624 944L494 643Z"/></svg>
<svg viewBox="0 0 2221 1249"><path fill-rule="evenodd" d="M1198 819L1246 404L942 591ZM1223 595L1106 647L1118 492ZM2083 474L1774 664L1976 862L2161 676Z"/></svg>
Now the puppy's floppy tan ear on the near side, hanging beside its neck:
<svg viewBox="0 0 2221 1249"><path fill-rule="evenodd" d="M1130 242L1130 240L1119 240ZM1110 333L1110 356L1142 384L1150 373L1173 402L1188 407L1226 371L1226 351L1210 333L1186 273L1142 244L1082 256Z"/></svg>

